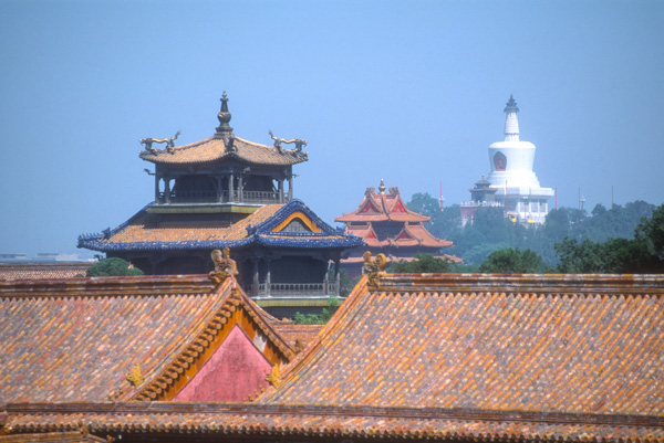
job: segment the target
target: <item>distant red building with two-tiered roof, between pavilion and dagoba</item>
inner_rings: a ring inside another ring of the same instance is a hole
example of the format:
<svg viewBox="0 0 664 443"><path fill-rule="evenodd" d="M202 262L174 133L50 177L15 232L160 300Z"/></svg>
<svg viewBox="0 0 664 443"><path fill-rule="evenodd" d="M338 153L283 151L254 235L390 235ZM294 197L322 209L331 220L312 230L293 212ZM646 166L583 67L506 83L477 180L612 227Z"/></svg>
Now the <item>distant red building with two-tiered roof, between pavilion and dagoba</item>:
<svg viewBox="0 0 664 443"><path fill-rule="evenodd" d="M366 188L364 199L354 212L334 219L346 224L346 233L357 235L366 243L366 247L355 249L342 262L344 267L351 274L359 274L366 250L374 255L383 253L390 261L412 260L416 254L440 255L440 249L452 246L452 242L432 235L424 226L429 220L429 217L406 208L398 188L390 188L386 193L383 180L377 193L375 188Z"/></svg>

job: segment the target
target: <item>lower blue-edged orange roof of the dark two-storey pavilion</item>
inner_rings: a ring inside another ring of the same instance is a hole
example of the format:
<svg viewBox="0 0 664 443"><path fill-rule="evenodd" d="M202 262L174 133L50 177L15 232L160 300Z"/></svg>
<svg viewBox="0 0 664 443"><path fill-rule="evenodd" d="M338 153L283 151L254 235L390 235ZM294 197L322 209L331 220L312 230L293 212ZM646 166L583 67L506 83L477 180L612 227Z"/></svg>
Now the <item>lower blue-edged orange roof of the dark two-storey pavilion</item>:
<svg viewBox="0 0 664 443"><path fill-rule="evenodd" d="M118 228L79 238L79 247L101 252L243 249L252 245L293 249L346 249L364 244L322 221L307 204L293 199L266 204L227 226L214 222L156 222L147 207Z"/></svg>

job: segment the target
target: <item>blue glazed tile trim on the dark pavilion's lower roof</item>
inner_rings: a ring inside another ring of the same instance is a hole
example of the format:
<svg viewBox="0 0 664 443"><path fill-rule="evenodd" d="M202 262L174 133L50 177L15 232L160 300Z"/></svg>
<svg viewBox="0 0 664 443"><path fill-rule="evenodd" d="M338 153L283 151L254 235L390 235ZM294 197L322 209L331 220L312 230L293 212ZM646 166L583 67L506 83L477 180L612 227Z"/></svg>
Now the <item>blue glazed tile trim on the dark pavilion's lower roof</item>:
<svg viewBox="0 0 664 443"><path fill-rule="evenodd" d="M79 236L77 247L85 247L100 252L122 251L184 251L184 250L215 250L215 249L242 249L251 245L291 249L347 249L364 245L361 238L346 234L343 231L330 226L322 221L301 200L291 200L280 208L272 217L256 226L247 228L247 236L240 240L203 240L203 241L178 241L178 242L126 242L110 243L104 241L123 229L127 228L132 220L143 215L147 205L138 211L126 222L114 230L104 233L86 234ZM291 213L302 211L323 232L272 232L272 229L283 222Z"/></svg>

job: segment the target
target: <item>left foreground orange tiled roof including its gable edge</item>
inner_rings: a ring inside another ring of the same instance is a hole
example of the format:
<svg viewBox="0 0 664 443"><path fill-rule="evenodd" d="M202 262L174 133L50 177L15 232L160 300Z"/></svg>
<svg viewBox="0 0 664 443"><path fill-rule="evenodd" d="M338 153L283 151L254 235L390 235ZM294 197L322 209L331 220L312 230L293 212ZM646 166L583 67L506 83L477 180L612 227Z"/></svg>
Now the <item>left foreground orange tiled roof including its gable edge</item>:
<svg viewBox="0 0 664 443"><path fill-rule="evenodd" d="M0 412L15 402L172 398L237 323L250 339L260 331L268 360L294 356L234 278L218 287L207 276L0 282Z"/></svg>

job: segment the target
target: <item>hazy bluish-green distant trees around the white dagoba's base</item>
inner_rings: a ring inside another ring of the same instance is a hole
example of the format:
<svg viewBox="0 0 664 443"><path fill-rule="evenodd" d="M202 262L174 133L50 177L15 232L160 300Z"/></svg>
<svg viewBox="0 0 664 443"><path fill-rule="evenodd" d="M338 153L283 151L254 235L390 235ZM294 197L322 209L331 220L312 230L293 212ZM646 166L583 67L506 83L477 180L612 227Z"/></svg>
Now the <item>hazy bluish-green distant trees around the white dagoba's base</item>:
<svg viewBox="0 0 664 443"><path fill-rule="evenodd" d="M512 249L530 250L549 266L562 265L559 251L562 253L563 250L560 247L557 250L556 244L564 239L581 244L585 240L595 243L606 242L610 239L631 240L634 239L634 230L641 220L651 217L654 209L654 205L643 201L627 203L624 207L614 204L611 209L598 204L591 214L578 209L560 208L549 212L543 226L535 226L512 223L504 217L504 210L500 208L486 208L476 212L473 224L463 226L459 205L447 207L440 211L438 201L428 193L414 194L407 207L412 211L430 217L432 221L426 223L429 232L454 243L453 247L446 247L442 252L459 256L464 263L480 264L496 251ZM657 217L664 219L664 214ZM649 238L655 239L657 226L663 225L664 220L655 223L654 226L644 226L637 231L637 234L644 236L645 230L655 231ZM660 229L664 230L664 228ZM663 238L664 234L660 232L658 239ZM658 254L664 255L664 240L649 240L649 242L650 250L656 250ZM621 242L613 245L624 250ZM619 259L613 256L612 260ZM611 266L611 268L620 267Z"/></svg>

